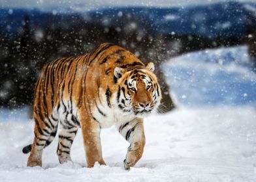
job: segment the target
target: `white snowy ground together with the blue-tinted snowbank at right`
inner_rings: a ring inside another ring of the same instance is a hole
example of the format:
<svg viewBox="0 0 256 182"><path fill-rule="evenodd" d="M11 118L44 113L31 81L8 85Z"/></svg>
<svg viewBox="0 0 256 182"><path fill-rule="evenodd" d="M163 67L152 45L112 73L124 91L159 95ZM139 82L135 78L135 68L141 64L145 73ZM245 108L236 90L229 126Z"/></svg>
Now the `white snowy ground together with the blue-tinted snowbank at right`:
<svg viewBox="0 0 256 182"><path fill-rule="evenodd" d="M223 59L222 63L204 59L204 54ZM237 60L233 63L232 55ZM169 60L165 73L178 108L146 118L144 155L129 171L123 169L122 162L129 144L114 127L101 133L107 166L84 167L86 159L79 131L71 149L73 163L59 164L55 139L44 149L42 168L28 168L28 155L22 153L22 148L32 142L33 121L27 117L27 109L1 110L0 181L256 181L255 73L251 72L246 55L246 47L233 47ZM184 79L179 80L178 75ZM219 82L214 81L216 78ZM216 87L206 84L206 79L214 81L212 85ZM224 80L227 85L233 83L227 87L231 95L244 94L240 91L244 83L248 99L227 99L229 94L221 95ZM209 91L200 98L202 92L213 88L215 92ZM216 97L218 94L220 98ZM210 98L217 101L209 101Z"/></svg>

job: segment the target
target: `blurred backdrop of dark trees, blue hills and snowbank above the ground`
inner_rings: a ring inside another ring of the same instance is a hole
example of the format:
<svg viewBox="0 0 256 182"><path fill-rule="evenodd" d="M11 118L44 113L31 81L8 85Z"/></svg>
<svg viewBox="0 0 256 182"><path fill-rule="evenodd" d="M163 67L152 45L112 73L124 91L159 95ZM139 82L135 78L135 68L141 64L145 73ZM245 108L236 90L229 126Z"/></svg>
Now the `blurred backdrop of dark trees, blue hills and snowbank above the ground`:
<svg viewBox="0 0 256 182"><path fill-rule="evenodd" d="M31 105L44 64L88 53L103 42L155 63L163 111L179 104L256 100L255 1L2 0L0 5L1 108Z"/></svg>

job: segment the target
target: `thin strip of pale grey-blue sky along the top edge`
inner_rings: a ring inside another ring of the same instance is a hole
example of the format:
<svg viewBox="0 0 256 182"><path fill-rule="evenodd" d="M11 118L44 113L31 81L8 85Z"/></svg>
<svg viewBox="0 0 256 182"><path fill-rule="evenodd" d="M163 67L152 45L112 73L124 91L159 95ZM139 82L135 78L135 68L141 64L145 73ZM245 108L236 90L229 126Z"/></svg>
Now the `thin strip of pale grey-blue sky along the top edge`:
<svg viewBox="0 0 256 182"><path fill-rule="evenodd" d="M108 8L112 6L186 6L205 3L217 3L227 0L0 0L1 7L37 7L37 8L73 8L93 10L97 8ZM255 2L256 0L238 0L240 2Z"/></svg>

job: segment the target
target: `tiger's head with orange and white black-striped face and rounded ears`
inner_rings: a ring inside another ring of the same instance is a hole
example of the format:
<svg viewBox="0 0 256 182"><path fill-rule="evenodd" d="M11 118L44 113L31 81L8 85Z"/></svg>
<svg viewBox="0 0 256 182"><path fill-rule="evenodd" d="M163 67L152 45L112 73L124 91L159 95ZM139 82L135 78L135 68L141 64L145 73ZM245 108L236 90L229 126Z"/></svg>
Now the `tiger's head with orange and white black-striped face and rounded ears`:
<svg viewBox="0 0 256 182"><path fill-rule="evenodd" d="M143 118L157 110L161 101L161 90L153 73L154 69L152 62L143 69L131 71L119 67L114 69L114 77L118 79L119 85L116 107L121 112Z"/></svg>

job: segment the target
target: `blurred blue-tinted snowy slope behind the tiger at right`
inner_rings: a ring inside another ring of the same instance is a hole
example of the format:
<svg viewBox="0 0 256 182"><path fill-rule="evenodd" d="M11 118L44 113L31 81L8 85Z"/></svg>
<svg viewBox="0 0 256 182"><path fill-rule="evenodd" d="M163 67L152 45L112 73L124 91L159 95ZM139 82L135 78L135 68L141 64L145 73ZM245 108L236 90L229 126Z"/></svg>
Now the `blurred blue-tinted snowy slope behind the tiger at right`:
<svg viewBox="0 0 256 182"><path fill-rule="evenodd" d="M246 45L187 53L163 66L178 103L189 107L255 104L253 68Z"/></svg>

